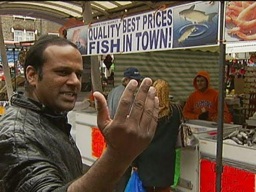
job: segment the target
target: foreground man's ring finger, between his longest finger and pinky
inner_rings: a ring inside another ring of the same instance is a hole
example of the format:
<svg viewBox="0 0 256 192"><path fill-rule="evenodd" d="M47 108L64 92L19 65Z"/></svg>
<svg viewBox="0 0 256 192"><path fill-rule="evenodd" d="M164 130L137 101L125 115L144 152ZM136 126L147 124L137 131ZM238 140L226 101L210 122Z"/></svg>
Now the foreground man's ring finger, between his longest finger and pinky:
<svg viewBox="0 0 256 192"><path fill-rule="evenodd" d="M151 123L154 112L156 88L150 87L148 90L148 95L144 105L144 110L140 119L140 129L148 132L148 126Z"/></svg>

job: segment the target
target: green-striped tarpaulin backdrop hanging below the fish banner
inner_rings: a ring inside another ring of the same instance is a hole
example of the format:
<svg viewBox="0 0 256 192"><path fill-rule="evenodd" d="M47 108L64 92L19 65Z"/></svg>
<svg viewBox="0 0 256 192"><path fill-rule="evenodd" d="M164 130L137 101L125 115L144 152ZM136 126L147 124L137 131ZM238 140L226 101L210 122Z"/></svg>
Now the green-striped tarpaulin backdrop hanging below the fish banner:
<svg viewBox="0 0 256 192"><path fill-rule="evenodd" d="M208 47L212 48L212 47ZM124 70L138 68L144 77L162 78L170 85L174 101L186 101L195 90L193 79L200 70L210 74L211 86L218 90L219 54L210 51L168 50L140 54L115 55L114 85L121 84Z"/></svg>

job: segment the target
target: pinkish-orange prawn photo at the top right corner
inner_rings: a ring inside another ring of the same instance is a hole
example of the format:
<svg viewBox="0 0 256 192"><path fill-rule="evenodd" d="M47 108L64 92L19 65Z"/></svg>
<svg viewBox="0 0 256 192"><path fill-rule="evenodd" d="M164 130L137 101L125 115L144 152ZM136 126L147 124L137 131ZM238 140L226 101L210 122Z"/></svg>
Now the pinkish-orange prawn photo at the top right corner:
<svg viewBox="0 0 256 192"><path fill-rule="evenodd" d="M256 40L256 2L227 2L226 26L230 36L236 35L240 40Z"/></svg>

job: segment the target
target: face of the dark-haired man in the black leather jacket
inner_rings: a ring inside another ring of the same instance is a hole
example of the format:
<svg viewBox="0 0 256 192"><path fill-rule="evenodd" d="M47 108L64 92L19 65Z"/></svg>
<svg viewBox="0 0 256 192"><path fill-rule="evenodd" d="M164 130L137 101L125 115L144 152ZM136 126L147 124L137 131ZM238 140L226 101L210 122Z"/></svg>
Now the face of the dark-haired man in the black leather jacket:
<svg viewBox="0 0 256 192"><path fill-rule="evenodd" d="M72 110L81 89L81 54L71 45L52 45L44 50L44 56L42 80L36 82L34 90L36 97L56 112Z"/></svg>

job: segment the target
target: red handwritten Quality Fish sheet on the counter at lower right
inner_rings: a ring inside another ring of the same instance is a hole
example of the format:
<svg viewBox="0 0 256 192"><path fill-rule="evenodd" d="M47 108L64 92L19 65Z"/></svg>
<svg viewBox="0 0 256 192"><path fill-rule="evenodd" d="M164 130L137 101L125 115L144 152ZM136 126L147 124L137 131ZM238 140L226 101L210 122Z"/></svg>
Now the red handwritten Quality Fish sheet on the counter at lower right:
<svg viewBox="0 0 256 192"><path fill-rule="evenodd" d="M200 192L216 192L216 162L200 162ZM255 174L231 166L223 166L222 192L256 192Z"/></svg>

